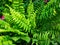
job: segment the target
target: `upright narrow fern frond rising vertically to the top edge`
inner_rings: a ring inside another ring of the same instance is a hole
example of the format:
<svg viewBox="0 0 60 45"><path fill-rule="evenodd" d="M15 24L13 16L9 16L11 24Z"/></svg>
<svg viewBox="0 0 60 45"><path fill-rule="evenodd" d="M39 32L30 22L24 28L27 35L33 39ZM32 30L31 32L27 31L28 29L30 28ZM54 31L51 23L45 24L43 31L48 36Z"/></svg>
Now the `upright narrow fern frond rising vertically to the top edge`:
<svg viewBox="0 0 60 45"><path fill-rule="evenodd" d="M27 12L28 12L28 19L30 20L32 27L35 28L35 26L36 26L36 24L35 24L36 12L34 12L34 5L33 5L32 0L30 0L30 3L27 8Z"/></svg>

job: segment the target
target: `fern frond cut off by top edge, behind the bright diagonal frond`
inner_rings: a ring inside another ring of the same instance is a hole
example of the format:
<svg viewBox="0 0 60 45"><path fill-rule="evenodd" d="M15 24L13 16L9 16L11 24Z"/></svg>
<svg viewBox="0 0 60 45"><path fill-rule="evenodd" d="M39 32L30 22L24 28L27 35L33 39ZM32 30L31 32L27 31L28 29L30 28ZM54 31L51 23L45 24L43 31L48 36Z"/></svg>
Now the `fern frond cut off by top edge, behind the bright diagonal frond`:
<svg viewBox="0 0 60 45"><path fill-rule="evenodd" d="M12 8L15 9L19 13L23 13L23 14L25 13L23 0L13 1Z"/></svg>

